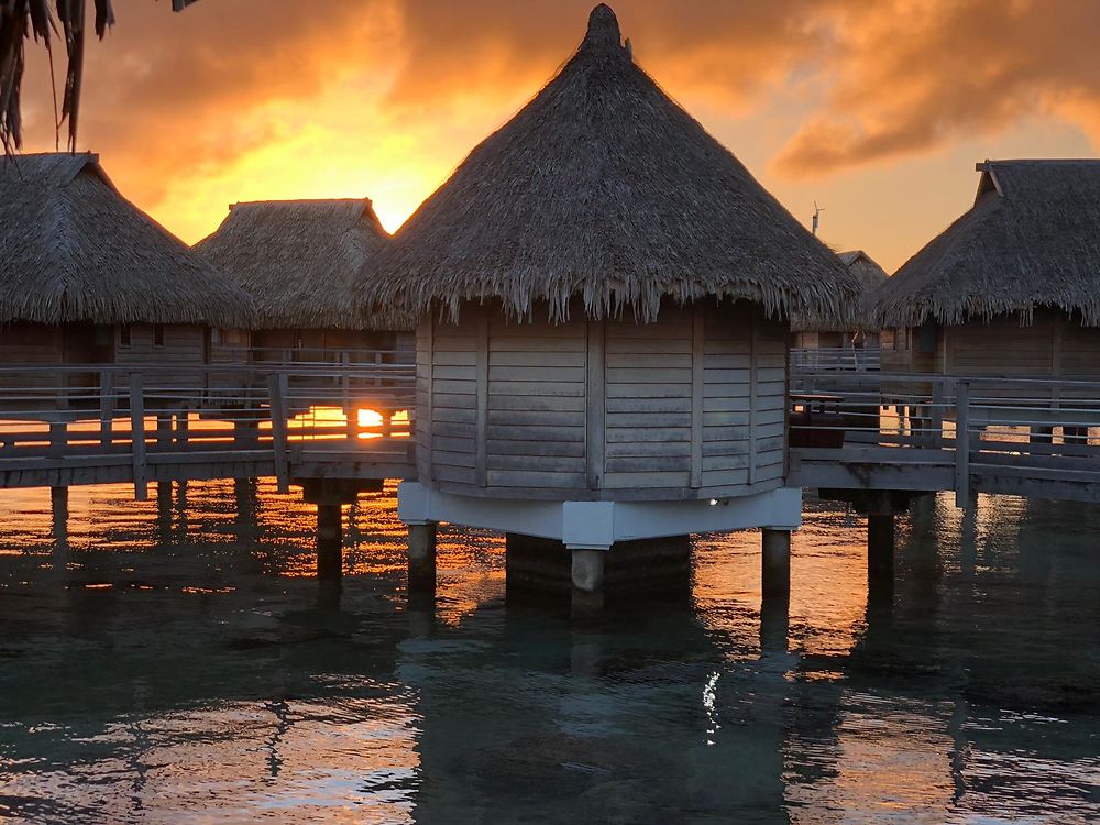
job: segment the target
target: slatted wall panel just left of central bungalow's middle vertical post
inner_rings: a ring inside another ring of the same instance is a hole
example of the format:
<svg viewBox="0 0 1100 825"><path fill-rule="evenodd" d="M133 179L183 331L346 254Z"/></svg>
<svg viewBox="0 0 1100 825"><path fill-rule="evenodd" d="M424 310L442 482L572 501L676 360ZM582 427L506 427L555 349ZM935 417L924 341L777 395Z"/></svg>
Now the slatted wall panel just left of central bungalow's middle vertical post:
<svg viewBox="0 0 1100 825"><path fill-rule="evenodd" d="M487 484L584 486L585 324L488 329Z"/></svg>

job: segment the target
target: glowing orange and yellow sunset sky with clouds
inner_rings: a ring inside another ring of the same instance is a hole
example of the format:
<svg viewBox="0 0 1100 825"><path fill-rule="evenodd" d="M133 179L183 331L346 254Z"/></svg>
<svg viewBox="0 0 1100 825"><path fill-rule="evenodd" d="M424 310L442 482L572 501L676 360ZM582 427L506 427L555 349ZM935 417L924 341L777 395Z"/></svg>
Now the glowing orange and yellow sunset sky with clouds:
<svg viewBox="0 0 1100 825"><path fill-rule="evenodd" d="M592 0L117 0L79 147L193 243L229 204L366 196L402 221L548 80ZM887 270L964 211L976 161L1100 142L1100 2L619 0L635 59L809 226ZM54 146L44 52L25 151Z"/></svg>

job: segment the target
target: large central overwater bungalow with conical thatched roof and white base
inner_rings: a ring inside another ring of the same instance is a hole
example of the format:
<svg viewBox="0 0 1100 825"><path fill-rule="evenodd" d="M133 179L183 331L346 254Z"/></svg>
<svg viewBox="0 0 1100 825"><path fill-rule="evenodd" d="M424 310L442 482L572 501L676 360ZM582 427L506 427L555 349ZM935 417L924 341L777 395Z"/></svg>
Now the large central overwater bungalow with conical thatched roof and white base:
<svg viewBox="0 0 1100 825"><path fill-rule="evenodd" d="M609 8L370 275L369 298L421 318L417 559L443 520L507 530L509 552L564 543L574 593L612 547L648 564L685 542L636 540L705 530L774 528L765 563L784 564L788 318L839 316L859 285L634 62Z"/></svg>

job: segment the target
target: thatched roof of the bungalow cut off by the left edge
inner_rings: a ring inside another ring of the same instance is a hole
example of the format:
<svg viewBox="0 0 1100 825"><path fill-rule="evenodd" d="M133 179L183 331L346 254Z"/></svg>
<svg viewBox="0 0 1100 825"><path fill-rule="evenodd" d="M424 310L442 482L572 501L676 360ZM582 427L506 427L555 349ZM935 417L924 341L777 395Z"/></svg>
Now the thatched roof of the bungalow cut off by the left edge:
<svg viewBox="0 0 1100 825"><path fill-rule="evenodd" d="M235 326L252 301L91 154L0 157L0 321Z"/></svg>

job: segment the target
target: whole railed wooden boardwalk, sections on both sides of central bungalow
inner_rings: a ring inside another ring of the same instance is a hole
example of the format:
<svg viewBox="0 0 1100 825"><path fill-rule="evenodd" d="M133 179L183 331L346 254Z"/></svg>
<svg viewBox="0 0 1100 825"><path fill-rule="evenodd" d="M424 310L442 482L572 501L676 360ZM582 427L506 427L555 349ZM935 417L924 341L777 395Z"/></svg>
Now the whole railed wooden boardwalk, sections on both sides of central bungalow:
<svg viewBox="0 0 1100 825"><path fill-rule="evenodd" d="M0 487L132 483L143 498L151 482L415 479L415 366L392 355L4 369ZM1100 380L900 375L866 363L798 360L792 486L954 491L960 506L979 492L1100 502Z"/></svg>

